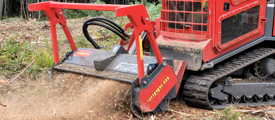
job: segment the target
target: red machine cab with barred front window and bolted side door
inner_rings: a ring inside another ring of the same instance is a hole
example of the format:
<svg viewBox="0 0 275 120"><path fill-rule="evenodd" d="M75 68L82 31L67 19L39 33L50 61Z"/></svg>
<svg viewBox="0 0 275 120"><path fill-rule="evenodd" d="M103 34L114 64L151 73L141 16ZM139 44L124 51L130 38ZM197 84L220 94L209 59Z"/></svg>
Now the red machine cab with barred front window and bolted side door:
<svg viewBox="0 0 275 120"><path fill-rule="evenodd" d="M209 41L201 46L203 62L207 62L264 34L264 2L266 0L162 1L160 25L156 25L160 28L160 36L169 40ZM225 4L230 6L228 10L224 10Z"/></svg>

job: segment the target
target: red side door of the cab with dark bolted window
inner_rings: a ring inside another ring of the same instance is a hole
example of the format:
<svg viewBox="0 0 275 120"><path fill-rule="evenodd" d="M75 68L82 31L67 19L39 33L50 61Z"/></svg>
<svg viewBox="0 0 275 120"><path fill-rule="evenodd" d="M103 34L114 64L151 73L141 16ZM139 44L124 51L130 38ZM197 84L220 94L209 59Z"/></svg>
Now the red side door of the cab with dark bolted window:
<svg viewBox="0 0 275 120"><path fill-rule="evenodd" d="M263 34L266 0L217 0L215 49L234 49Z"/></svg>

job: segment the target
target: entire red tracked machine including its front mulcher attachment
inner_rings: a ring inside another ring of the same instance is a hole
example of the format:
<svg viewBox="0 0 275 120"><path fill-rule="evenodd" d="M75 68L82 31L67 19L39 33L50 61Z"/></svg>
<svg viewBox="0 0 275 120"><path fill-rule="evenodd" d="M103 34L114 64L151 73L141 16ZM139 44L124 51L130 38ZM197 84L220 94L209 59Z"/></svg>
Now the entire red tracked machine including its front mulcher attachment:
<svg viewBox="0 0 275 120"><path fill-rule="evenodd" d="M48 1L28 8L42 10L50 20L55 63L52 72L131 83L131 110L139 117L140 113L165 112L169 100L179 92L187 103L204 109L222 109L230 103L275 105L274 3L162 0L156 22L149 20L143 5ZM90 18L83 24L83 34L95 49L76 48L62 9L115 11L115 16L127 16L130 23L123 29L109 19ZM62 26L72 48L61 62L56 24ZM89 36L89 25L117 34L121 37L119 45L102 50ZM127 28L133 32L127 33ZM249 75L256 79L247 80Z"/></svg>

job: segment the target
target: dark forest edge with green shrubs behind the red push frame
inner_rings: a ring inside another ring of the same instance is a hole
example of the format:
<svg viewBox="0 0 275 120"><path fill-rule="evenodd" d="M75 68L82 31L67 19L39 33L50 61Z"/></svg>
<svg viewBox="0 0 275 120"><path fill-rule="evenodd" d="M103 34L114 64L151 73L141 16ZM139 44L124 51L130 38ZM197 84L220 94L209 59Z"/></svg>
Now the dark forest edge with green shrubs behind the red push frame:
<svg viewBox="0 0 275 120"><path fill-rule="evenodd" d="M40 19L46 18L42 11L28 11L28 4L51 1L51 0L0 0L0 20L11 21L10 18L20 18L21 17L21 3L22 3L22 14L23 18L28 19ZM138 1L138 0L56 0L58 2L69 2L69 3L96 3L96 4L120 4L120 5L133 5L133 4L144 4L148 9L150 18L152 21L156 17L160 16L161 0L148 0L148 1ZM103 12L103 11L87 11L87 10L71 10L65 9L64 15L66 18L82 18L87 16L98 16L98 15L108 15L115 16L113 12Z"/></svg>

